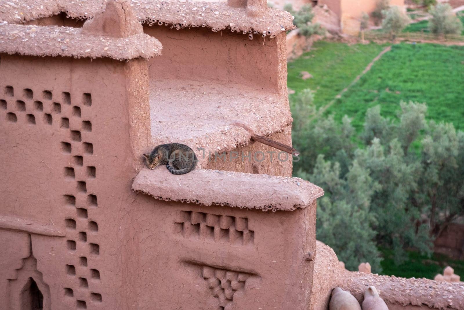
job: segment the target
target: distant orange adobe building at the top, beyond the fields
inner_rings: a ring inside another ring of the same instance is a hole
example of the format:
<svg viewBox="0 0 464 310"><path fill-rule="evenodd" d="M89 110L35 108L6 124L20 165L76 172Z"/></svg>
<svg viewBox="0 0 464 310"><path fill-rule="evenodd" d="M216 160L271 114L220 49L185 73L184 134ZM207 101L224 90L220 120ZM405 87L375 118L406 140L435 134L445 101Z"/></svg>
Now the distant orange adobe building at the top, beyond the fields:
<svg viewBox="0 0 464 310"><path fill-rule="evenodd" d="M314 2L314 1L313 1ZM374 11L378 0L317 0L318 5L327 5L339 17L343 33L357 35L360 32L362 13L369 16ZM390 0L391 6L398 6L406 11L405 0Z"/></svg>

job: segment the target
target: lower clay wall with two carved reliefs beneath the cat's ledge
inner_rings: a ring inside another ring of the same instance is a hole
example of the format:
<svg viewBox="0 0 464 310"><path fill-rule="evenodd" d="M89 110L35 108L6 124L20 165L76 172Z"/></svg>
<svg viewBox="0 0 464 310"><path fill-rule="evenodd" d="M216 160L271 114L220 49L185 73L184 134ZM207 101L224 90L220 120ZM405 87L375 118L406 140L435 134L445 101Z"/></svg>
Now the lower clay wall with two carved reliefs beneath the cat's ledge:
<svg viewBox="0 0 464 310"><path fill-rule="evenodd" d="M309 303L313 262L304 257L315 250L315 204L264 213L157 206L159 200L144 197L129 213L133 229L126 238L135 245L130 271L140 308L303 309Z"/></svg>

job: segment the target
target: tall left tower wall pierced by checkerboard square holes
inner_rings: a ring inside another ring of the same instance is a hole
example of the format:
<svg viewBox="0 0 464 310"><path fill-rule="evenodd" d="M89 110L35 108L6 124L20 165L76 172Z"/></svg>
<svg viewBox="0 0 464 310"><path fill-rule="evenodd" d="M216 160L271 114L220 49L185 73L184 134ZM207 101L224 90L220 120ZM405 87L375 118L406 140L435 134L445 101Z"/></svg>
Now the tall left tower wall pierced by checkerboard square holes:
<svg viewBox="0 0 464 310"><path fill-rule="evenodd" d="M33 257L44 297L43 286L49 289L44 306L127 309L133 300L132 284L122 280L130 278L122 266L131 255L123 245L124 213L134 200L135 152L149 137L148 109L137 99L146 61L2 54L0 71L0 225L8 227L0 228L8 249L0 253L0 299L18 301L14 281L24 284L21 266ZM127 83L134 74L139 85ZM129 122L137 116L129 108L147 117L145 127L139 117L138 139L131 139Z"/></svg>

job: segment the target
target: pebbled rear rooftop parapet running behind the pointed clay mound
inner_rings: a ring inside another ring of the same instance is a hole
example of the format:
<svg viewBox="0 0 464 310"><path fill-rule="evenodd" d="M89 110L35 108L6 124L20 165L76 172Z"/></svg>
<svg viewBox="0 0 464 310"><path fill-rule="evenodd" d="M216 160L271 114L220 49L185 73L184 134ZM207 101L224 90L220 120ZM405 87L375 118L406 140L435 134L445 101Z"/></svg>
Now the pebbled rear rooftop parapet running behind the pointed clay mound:
<svg viewBox="0 0 464 310"><path fill-rule="evenodd" d="M215 32L229 28L270 36L294 29L290 13L263 7L262 1L254 2L250 0L251 6L247 7L237 4L234 6L239 7L232 7L226 2L132 0L130 6L137 19L148 24L160 23L179 28L202 26ZM103 11L105 4L104 0L0 0L0 20L23 23L61 12L73 19L88 19Z"/></svg>

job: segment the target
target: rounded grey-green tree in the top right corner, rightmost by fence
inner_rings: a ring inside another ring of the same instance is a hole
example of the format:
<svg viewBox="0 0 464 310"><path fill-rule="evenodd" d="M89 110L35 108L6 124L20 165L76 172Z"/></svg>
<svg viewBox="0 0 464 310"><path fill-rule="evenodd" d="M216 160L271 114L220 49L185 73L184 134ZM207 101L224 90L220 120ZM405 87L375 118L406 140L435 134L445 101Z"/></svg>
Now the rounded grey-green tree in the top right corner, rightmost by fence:
<svg viewBox="0 0 464 310"><path fill-rule="evenodd" d="M453 12L449 4L439 3L430 9L432 19L429 28L432 33L460 34L463 31L461 20Z"/></svg>

